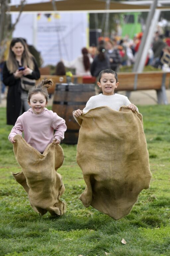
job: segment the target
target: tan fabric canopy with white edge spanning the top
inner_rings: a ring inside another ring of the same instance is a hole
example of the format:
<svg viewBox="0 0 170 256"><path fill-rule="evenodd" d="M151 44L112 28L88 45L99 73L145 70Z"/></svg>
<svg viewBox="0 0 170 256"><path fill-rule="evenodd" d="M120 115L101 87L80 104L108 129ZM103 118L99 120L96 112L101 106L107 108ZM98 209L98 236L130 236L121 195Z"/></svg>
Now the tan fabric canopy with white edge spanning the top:
<svg viewBox="0 0 170 256"><path fill-rule="evenodd" d="M62 1L53 1L54 5L52 4L52 1L48 2L42 2L42 3L33 3L33 4L25 4L23 12L46 12L51 13L55 10L57 12L88 12L88 13L94 13L94 12L142 12L146 11L148 12L150 10L150 4L153 1L139 1L142 3L138 3L138 1L135 1L135 4L133 1L130 3L128 1L124 2L115 2L110 1L110 7L108 10L106 10L106 1L104 0L62 0ZM146 4L145 4L146 2ZM165 2L165 1L163 1ZM167 1L167 5L160 4L160 2L157 4L156 9L159 9L161 11L169 11L170 10L170 1ZM161 5L161 6L160 6ZM11 5L10 12L19 12L21 6L20 5Z"/></svg>

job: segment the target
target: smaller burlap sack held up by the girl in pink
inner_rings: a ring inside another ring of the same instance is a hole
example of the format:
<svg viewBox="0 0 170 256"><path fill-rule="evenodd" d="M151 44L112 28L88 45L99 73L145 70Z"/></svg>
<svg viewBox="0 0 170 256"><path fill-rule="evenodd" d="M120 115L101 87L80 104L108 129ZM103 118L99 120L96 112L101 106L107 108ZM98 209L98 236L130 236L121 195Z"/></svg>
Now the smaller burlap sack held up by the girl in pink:
<svg viewBox="0 0 170 256"><path fill-rule="evenodd" d="M64 161L60 145L49 144L43 154L30 146L20 135L14 137L14 154L22 172L13 173L28 194L32 208L41 215L63 215L65 203L60 201L64 193L62 177L57 169Z"/></svg>

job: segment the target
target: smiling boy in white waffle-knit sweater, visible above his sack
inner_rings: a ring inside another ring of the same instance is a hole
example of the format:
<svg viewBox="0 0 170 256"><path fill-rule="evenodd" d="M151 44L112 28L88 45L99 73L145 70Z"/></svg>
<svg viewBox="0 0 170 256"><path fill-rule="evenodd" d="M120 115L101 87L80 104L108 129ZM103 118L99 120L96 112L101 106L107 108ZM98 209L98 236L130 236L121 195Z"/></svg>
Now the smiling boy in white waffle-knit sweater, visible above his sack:
<svg viewBox="0 0 170 256"><path fill-rule="evenodd" d="M137 107L128 100L128 97L114 93L115 88L119 85L118 75L115 71L112 69L102 70L99 74L99 82L97 84L103 93L92 96L83 110L77 109L73 111L75 119L82 114L86 114L90 109L102 106L110 107L116 111L119 111L122 106L128 106L133 112L138 112Z"/></svg>

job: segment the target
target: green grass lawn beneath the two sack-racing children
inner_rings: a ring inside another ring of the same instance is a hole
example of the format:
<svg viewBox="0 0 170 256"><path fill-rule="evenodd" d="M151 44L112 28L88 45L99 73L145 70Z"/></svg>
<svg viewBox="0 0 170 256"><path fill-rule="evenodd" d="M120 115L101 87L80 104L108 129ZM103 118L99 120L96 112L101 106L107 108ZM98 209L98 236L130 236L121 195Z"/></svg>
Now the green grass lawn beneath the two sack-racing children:
<svg viewBox="0 0 170 256"><path fill-rule="evenodd" d="M8 141L0 108L0 255L6 256L169 256L170 255L170 106L138 106L143 115L152 180L128 216L114 220L78 200L85 188L76 164L76 145L64 145L61 217L40 217L11 175L21 170ZM126 244L122 244L122 239Z"/></svg>

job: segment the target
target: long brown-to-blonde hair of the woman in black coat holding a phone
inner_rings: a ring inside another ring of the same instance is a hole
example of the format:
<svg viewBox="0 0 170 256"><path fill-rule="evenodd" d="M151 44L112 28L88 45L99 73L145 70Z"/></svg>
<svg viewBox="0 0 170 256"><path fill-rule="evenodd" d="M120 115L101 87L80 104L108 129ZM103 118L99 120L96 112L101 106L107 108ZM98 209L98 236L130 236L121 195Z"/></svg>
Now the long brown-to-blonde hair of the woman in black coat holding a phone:
<svg viewBox="0 0 170 256"><path fill-rule="evenodd" d="M22 55L22 65L25 67L29 67L30 69L34 70L34 61L33 61L33 55L29 52L28 47L24 40L20 37L13 38L11 43L10 43L10 49L8 53L8 59L7 59L7 68L10 71L10 73L14 73L18 69L18 62L16 60L15 54L12 51L12 47L16 43L21 43L24 46L24 52Z"/></svg>

